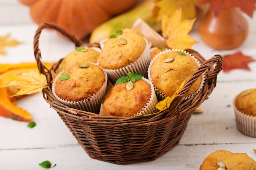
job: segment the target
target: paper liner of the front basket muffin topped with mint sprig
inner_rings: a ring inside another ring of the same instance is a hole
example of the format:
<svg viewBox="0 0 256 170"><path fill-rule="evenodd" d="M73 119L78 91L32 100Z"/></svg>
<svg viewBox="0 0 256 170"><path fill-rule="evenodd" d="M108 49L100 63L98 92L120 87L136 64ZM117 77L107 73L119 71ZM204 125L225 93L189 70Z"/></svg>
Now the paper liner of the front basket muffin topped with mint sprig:
<svg viewBox="0 0 256 170"><path fill-rule="evenodd" d="M152 113L156 113L157 112L156 105L158 103L158 99L157 99L157 96L156 96L156 93L155 93L154 86L153 86L152 82L150 82L147 78L142 77L141 79L144 80L145 82L147 82L150 85L151 95L150 95L150 98L149 98L148 102L144 106L144 108L141 108L141 110L135 115L149 115L149 114L152 114ZM112 116L112 115L110 115L110 113L107 112L105 106L103 106L103 101L102 101L101 110L100 110L99 114L103 115L103 116Z"/></svg>

